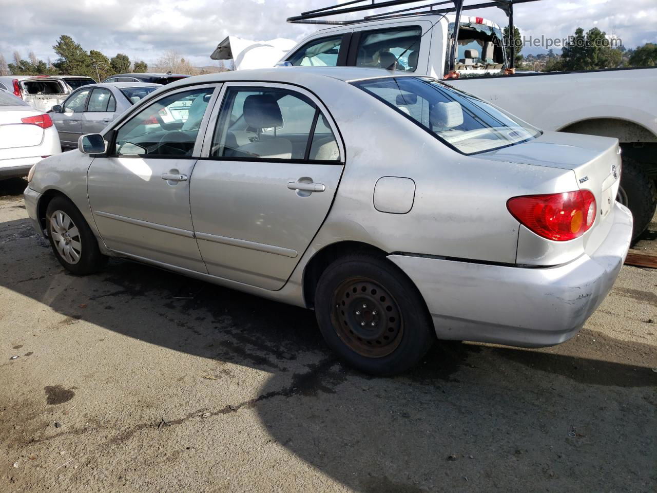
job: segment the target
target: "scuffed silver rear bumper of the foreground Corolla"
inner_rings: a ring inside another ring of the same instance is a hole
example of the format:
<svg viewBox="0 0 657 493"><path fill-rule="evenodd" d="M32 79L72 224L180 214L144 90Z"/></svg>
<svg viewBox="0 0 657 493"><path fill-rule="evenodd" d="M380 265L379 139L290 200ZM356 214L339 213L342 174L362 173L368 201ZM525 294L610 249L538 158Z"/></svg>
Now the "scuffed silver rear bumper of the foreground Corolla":
<svg viewBox="0 0 657 493"><path fill-rule="evenodd" d="M632 216L616 203L609 232L590 255L523 268L391 255L418 287L439 339L552 346L570 339L609 293L627 256Z"/></svg>

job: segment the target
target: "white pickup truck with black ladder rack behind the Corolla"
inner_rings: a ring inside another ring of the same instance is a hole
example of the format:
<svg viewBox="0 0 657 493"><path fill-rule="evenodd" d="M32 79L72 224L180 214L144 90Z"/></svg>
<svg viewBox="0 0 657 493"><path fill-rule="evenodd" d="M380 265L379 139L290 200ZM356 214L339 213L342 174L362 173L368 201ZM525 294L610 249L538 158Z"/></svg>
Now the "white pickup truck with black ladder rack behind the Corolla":
<svg viewBox="0 0 657 493"><path fill-rule="evenodd" d="M528 0L510 3L524 1ZM459 4L463 10L487 5L464 7L463 0L454 0L456 9L422 5L431 9L417 14L413 7L369 15L365 20L317 20L415 2L353 5L357 3L350 1L289 18L288 22L329 27L306 37L277 65L372 66L445 78L538 128L616 137L623 158L617 199L634 214L634 237L645 230L657 204L657 67L514 74L499 26L481 17L461 16L458 8ZM437 5L445 3L450 2ZM512 5L505 8L510 8L507 13L512 28Z"/></svg>

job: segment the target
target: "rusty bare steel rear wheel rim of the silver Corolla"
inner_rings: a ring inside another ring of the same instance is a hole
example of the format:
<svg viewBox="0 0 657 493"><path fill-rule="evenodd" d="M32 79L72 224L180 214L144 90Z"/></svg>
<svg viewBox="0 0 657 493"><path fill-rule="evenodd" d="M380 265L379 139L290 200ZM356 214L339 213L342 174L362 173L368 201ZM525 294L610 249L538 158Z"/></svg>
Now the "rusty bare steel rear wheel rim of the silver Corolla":
<svg viewBox="0 0 657 493"><path fill-rule="evenodd" d="M403 320L393 296L371 279L351 278L334 291L333 327L351 350L382 358L397 349Z"/></svg>

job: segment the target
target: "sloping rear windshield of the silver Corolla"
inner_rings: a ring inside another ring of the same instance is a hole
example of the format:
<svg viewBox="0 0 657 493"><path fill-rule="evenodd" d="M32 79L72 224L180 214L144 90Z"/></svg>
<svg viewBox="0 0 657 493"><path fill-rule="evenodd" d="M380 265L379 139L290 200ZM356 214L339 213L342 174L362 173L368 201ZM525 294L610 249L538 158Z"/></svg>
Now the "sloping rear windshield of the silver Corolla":
<svg viewBox="0 0 657 493"><path fill-rule="evenodd" d="M541 131L470 94L430 78L353 82L463 154L526 142Z"/></svg>

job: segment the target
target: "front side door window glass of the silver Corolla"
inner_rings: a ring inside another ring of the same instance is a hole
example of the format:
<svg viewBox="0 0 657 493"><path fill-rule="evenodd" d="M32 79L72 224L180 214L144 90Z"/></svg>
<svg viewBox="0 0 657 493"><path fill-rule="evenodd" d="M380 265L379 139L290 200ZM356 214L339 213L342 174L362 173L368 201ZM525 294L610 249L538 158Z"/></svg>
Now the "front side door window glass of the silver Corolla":
<svg viewBox="0 0 657 493"><path fill-rule="evenodd" d="M191 156L213 87L164 97L141 110L116 133L117 156Z"/></svg>

